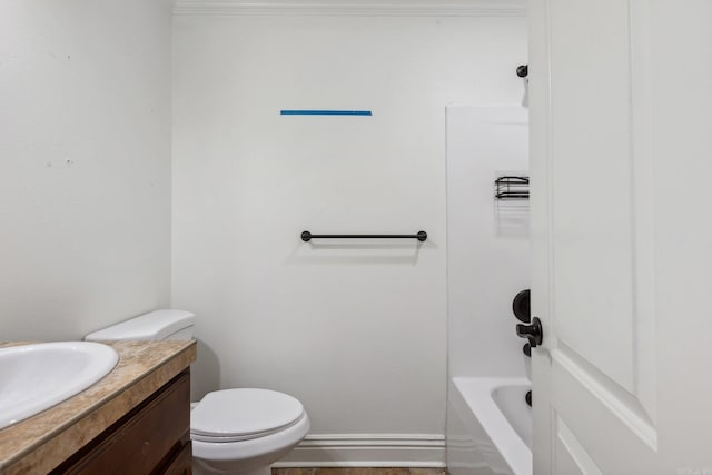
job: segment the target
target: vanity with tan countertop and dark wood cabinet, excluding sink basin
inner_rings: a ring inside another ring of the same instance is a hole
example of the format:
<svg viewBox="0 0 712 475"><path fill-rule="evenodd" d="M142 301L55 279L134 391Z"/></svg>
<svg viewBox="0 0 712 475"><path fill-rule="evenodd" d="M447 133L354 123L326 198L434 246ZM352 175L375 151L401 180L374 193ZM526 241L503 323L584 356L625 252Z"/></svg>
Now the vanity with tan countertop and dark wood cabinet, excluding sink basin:
<svg viewBox="0 0 712 475"><path fill-rule="evenodd" d="M0 475L191 473L195 340L106 344L119 355L107 376L0 429Z"/></svg>

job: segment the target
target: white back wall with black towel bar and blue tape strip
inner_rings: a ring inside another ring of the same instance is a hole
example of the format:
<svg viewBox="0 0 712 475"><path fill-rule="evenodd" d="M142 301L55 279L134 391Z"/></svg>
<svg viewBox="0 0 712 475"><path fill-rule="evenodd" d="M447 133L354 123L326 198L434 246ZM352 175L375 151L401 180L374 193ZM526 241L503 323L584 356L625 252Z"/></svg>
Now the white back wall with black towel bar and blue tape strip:
<svg viewBox="0 0 712 475"><path fill-rule="evenodd" d="M313 426L293 463L442 463L445 106L521 100L523 16L184 3L172 303L198 314L194 397L230 386L297 396ZM305 229L428 239L305 244Z"/></svg>

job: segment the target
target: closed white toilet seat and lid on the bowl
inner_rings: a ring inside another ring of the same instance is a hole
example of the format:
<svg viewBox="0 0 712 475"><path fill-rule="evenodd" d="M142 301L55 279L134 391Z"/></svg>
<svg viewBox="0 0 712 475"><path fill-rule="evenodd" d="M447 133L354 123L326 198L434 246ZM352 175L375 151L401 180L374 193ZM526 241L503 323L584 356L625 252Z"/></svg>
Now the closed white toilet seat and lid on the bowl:
<svg viewBox="0 0 712 475"><path fill-rule="evenodd" d="M285 431L305 415L294 397L269 389L222 389L207 394L190 414L190 438L230 443Z"/></svg>

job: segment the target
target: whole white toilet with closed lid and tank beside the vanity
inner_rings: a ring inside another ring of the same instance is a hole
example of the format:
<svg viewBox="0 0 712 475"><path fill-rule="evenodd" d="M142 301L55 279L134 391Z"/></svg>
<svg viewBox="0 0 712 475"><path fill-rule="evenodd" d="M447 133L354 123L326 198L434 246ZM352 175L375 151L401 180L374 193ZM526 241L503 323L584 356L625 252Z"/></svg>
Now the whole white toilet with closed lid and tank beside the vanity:
<svg viewBox="0 0 712 475"><path fill-rule="evenodd" d="M86 340L190 339L195 315L157 310L87 335ZM309 432L299 400L269 389L207 394L190 413L192 466L197 475L269 475L270 465Z"/></svg>

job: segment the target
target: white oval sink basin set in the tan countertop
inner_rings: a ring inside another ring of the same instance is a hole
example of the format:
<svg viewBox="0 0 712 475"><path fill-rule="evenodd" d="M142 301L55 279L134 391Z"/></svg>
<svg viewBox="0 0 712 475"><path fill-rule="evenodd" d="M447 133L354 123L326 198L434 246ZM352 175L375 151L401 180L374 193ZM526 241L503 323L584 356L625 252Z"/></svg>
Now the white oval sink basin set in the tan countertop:
<svg viewBox="0 0 712 475"><path fill-rule="evenodd" d="M113 348L90 342L0 348L0 429L86 389L118 360Z"/></svg>

